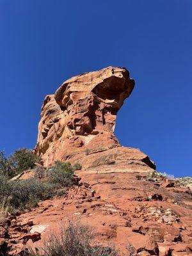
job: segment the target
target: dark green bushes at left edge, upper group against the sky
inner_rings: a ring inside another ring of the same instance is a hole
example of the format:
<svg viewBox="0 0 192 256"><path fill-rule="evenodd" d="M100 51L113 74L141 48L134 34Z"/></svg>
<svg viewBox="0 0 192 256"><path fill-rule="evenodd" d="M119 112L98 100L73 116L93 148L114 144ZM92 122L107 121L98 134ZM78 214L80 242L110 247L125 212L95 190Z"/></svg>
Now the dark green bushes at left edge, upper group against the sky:
<svg viewBox="0 0 192 256"><path fill-rule="evenodd" d="M41 158L33 154L32 150L22 148L6 157L4 151L0 151L0 175L13 176L35 167L35 163L40 163Z"/></svg>

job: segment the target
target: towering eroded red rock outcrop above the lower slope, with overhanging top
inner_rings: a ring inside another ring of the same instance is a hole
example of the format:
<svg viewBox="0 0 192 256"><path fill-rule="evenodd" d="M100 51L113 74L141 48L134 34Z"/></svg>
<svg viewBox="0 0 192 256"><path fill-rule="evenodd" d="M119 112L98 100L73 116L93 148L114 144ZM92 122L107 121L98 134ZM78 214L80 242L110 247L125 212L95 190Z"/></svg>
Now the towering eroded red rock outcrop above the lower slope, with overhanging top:
<svg viewBox="0 0 192 256"><path fill-rule="evenodd" d="M91 169L97 163L102 172L103 165L112 161L121 170L127 164L145 171L154 168L140 150L120 148L114 135L116 114L133 88L125 68L108 67L72 77L54 95L47 95L35 148L44 165L61 160Z"/></svg>

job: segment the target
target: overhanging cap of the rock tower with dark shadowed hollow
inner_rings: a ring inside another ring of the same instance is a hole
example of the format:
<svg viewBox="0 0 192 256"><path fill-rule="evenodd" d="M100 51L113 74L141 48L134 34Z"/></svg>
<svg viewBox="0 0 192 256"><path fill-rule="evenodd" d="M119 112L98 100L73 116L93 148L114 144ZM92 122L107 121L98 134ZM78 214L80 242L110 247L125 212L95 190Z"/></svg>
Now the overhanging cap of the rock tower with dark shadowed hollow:
<svg viewBox="0 0 192 256"><path fill-rule="evenodd" d="M108 67L68 79L56 90L54 97L62 109L90 94L100 102L120 108L133 88L134 80L130 79L128 70Z"/></svg>

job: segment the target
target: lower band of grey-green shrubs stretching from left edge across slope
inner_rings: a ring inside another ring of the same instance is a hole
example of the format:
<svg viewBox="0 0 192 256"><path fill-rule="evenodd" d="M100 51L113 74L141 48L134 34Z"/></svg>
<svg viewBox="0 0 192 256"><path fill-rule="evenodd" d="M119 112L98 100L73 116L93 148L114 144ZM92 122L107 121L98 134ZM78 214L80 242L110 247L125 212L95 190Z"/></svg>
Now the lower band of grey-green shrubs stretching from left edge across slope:
<svg viewBox="0 0 192 256"><path fill-rule="evenodd" d="M75 182L74 168L70 163L56 161L51 168L41 171L41 175L38 173L35 178L26 180L10 180L2 172L0 175L0 207L3 206L9 212L30 209L40 200L58 195L58 189L68 188Z"/></svg>

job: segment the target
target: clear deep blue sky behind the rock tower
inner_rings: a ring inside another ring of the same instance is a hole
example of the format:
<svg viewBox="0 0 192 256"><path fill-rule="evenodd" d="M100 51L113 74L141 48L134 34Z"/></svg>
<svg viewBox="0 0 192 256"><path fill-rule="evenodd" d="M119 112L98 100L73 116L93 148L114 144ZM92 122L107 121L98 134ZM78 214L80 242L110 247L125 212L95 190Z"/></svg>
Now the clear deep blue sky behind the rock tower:
<svg viewBox="0 0 192 256"><path fill-rule="evenodd" d="M136 81L120 143L161 172L191 175L191 0L0 0L0 33L0 149L35 147L45 95L113 65Z"/></svg>

